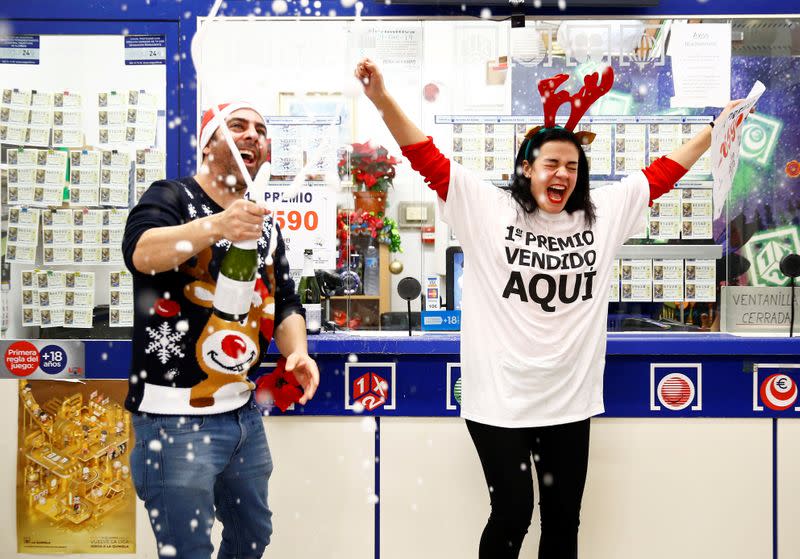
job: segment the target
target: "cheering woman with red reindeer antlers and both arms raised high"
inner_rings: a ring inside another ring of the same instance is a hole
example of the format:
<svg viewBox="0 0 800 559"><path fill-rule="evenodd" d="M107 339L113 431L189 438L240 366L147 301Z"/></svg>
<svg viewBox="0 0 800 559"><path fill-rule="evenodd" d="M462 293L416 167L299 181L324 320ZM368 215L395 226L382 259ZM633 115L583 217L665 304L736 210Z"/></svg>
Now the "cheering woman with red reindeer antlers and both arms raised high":
<svg viewBox="0 0 800 559"><path fill-rule="evenodd" d="M479 556L519 556L533 514L535 467L539 558L575 558L589 418L604 410L613 260L648 203L709 148L711 126L642 172L590 191L581 146L594 134L573 130L611 89L614 72L587 76L575 95L557 91L568 79L559 74L539 82L544 126L525 135L509 186L494 188L439 152L387 92L374 62L359 62L355 75L403 155L436 191L464 251L461 415L491 501ZM571 114L561 127L555 119L563 103Z"/></svg>

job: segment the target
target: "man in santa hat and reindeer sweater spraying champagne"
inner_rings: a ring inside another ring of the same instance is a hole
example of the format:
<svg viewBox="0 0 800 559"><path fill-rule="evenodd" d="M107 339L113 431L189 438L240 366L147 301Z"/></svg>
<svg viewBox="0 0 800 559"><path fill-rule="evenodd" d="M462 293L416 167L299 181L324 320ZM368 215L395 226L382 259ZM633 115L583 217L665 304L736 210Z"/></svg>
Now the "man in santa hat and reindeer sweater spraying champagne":
<svg viewBox="0 0 800 559"><path fill-rule="evenodd" d="M153 183L125 227L135 294L131 472L162 555L210 558L216 517L218 557L261 557L272 533L272 459L247 374L274 337L297 402L319 384L280 230L244 197L243 173L255 178L268 159L266 132L247 103L206 111L200 170ZM247 241L257 250L255 286L238 297L247 314L230 316L214 297L231 284L220 264L232 243Z"/></svg>

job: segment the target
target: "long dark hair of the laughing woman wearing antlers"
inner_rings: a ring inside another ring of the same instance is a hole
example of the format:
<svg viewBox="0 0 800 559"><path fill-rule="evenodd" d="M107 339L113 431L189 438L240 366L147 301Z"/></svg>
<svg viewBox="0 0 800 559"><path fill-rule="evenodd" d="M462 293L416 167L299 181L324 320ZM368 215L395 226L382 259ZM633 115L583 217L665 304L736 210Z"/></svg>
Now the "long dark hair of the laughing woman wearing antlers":
<svg viewBox="0 0 800 559"><path fill-rule="evenodd" d="M595 208L589 195L589 161L586 159L583 147L581 147L581 143L575 137L575 134L565 128L540 130L533 137L522 142L517 158L514 160L514 174L511 175L508 186L504 186L503 189L508 190L511 193L511 197L527 213L533 213L539 208L531 194L531 179L522 173L522 164L527 156L529 158L527 159L528 164L533 166L536 154L539 153L539 148L547 142L569 142L578 149L578 180L575 184L575 190L572 191L564 209L570 214L577 210L583 210L586 216L586 224L591 226L595 221Z"/></svg>

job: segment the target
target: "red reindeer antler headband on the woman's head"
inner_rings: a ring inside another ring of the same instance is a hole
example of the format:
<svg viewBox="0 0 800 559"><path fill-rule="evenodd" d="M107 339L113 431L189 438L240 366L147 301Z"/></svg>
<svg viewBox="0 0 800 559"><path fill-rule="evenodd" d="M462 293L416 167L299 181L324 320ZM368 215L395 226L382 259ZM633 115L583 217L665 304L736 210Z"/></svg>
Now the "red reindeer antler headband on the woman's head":
<svg viewBox="0 0 800 559"><path fill-rule="evenodd" d="M570 104L569 119L564 128L574 131L575 126L586 114L586 111L589 110L589 107L592 106L592 103L611 91L611 86L614 85L614 69L611 66L606 66L602 77L598 76L597 72L585 76L583 78L583 87L575 95L570 95L569 91L565 89L556 91L568 79L569 76L567 74L556 74L552 78L546 78L539 82L539 95L542 98L542 107L544 107L544 126L534 126L528 130L525 134L526 140L530 140L542 130L556 128L556 113L564 103ZM594 132L575 132L575 137L583 145L591 144L595 136ZM528 147L525 150L526 161L530 160L531 145L531 142L528 142Z"/></svg>

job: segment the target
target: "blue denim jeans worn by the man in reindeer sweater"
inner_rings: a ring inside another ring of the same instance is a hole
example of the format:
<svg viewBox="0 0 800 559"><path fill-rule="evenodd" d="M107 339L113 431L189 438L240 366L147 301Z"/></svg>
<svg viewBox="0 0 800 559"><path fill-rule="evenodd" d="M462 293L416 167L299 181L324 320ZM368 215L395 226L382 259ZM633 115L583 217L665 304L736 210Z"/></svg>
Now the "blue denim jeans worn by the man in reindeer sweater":
<svg viewBox="0 0 800 559"><path fill-rule="evenodd" d="M218 415L132 417L131 474L159 552L171 546L175 557L210 558L216 516L223 525L219 559L261 557L272 534L272 457L252 399Z"/></svg>

